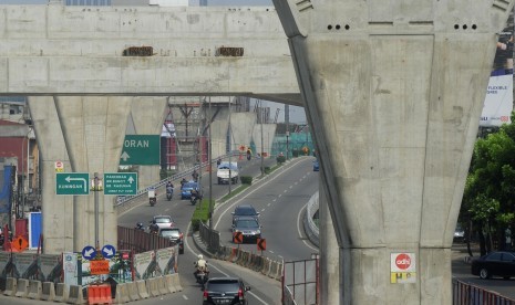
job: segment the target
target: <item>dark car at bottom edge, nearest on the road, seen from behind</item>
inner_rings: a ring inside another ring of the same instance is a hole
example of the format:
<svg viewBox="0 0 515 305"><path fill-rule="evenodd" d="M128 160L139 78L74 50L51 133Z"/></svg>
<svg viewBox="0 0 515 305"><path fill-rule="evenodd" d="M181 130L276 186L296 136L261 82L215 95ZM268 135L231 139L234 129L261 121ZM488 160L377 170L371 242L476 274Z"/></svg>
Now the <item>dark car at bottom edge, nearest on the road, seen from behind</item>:
<svg viewBox="0 0 515 305"><path fill-rule="evenodd" d="M245 285L239 277L212 277L204 286L204 305L213 304L247 304L246 293L250 286Z"/></svg>

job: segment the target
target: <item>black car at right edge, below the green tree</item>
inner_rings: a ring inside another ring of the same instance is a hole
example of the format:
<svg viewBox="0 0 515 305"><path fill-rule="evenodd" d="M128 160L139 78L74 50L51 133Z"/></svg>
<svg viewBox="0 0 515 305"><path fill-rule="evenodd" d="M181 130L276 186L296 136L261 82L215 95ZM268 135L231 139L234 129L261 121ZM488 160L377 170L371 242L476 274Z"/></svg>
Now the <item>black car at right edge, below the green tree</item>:
<svg viewBox="0 0 515 305"><path fill-rule="evenodd" d="M509 277L515 276L515 252L494 251L473 260L471 272L483 280L491 278L492 276L509 280Z"/></svg>

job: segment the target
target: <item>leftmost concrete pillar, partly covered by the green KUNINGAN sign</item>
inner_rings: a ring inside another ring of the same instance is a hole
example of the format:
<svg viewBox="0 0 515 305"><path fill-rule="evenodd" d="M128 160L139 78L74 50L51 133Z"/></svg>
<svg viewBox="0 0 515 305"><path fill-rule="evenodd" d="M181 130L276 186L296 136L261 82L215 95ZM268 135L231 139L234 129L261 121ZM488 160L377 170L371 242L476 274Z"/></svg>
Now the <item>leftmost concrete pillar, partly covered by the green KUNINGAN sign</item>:
<svg viewBox="0 0 515 305"><path fill-rule="evenodd" d="M29 108L40 148L43 253L73 251L73 196L55 194L55 162L72 171L52 96L29 97Z"/></svg>

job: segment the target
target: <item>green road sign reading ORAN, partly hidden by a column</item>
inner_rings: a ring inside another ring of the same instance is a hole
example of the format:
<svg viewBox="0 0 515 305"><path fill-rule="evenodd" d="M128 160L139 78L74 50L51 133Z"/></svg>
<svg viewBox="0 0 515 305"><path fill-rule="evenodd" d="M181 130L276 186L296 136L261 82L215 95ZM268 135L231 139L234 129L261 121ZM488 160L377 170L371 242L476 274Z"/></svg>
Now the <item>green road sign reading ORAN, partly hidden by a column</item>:
<svg viewBox="0 0 515 305"><path fill-rule="evenodd" d="M158 135L126 135L120 165L159 165L159 143Z"/></svg>

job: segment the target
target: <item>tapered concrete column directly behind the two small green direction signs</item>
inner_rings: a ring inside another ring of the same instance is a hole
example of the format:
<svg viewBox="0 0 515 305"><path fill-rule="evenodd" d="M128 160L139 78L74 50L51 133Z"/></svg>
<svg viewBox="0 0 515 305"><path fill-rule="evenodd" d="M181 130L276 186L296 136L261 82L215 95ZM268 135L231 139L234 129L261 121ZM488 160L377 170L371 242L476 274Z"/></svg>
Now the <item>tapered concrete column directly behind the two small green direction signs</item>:
<svg viewBox="0 0 515 305"><path fill-rule="evenodd" d="M58 97L56 109L72 171L117 172L130 97ZM113 196L99 196L99 245L116 245L116 213ZM94 196L75 196L73 250L95 245Z"/></svg>

